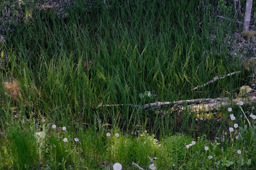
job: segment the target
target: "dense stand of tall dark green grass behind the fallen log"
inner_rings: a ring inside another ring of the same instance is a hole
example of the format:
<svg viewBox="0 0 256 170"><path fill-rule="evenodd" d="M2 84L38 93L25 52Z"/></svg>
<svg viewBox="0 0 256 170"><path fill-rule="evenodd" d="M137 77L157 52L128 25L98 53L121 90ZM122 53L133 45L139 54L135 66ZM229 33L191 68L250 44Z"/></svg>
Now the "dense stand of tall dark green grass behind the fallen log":
<svg viewBox="0 0 256 170"><path fill-rule="evenodd" d="M202 88L202 93L190 90L217 75L241 70L239 61L230 62L227 56L225 39L234 23L220 21L200 1L112 7L86 12L77 2L68 18L50 9L34 11L32 24L19 25L9 34L14 61L8 74L18 78L36 114L90 124L96 124L95 114L104 117L102 123L115 124L111 118L117 114L125 126L131 115L139 118L143 113L125 106L96 107L216 98L242 84L234 76ZM95 65L83 70L83 61L90 60ZM141 100L139 93L144 91L155 98ZM155 117L145 116L142 119Z"/></svg>

